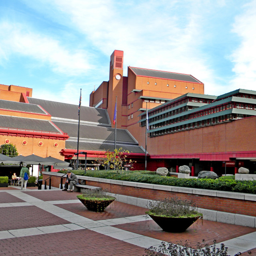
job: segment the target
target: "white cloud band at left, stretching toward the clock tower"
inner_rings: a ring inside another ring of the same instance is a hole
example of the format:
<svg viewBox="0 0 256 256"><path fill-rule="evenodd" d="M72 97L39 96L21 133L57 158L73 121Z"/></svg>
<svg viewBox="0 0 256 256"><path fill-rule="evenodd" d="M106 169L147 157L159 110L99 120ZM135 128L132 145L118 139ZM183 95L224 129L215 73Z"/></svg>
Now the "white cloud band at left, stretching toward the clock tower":
<svg viewBox="0 0 256 256"><path fill-rule="evenodd" d="M8 60L13 54L38 60L38 64L50 65L57 73L79 75L88 72L89 54L85 50L70 51L60 42L39 33L33 33L28 25L0 24L0 60Z"/></svg>

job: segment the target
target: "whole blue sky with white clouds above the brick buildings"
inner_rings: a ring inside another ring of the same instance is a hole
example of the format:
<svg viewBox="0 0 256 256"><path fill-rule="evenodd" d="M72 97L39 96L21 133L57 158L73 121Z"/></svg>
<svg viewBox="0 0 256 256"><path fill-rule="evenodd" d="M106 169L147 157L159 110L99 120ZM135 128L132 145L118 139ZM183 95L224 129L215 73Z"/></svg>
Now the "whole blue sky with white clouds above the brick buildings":
<svg viewBox="0 0 256 256"><path fill-rule="evenodd" d="M0 0L0 84L89 106L127 66L191 74L204 93L256 90L256 0Z"/></svg>

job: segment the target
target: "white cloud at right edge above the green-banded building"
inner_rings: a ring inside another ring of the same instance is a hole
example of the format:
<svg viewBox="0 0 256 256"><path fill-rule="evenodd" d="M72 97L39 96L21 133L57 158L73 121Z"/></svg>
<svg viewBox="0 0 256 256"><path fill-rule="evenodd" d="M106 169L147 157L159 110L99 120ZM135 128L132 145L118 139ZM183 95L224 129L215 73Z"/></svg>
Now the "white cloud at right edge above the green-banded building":
<svg viewBox="0 0 256 256"><path fill-rule="evenodd" d="M256 90L256 1L244 6L244 12L236 17L233 32L241 43L230 59L234 63L235 77L230 88Z"/></svg>

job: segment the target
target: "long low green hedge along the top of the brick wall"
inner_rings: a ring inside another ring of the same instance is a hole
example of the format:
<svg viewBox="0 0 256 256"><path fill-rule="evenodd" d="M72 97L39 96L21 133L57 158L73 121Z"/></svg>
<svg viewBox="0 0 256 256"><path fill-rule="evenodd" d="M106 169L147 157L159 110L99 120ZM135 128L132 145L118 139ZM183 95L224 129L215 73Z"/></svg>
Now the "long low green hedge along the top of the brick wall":
<svg viewBox="0 0 256 256"><path fill-rule="evenodd" d="M60 171L65 173L63 171ZM98 171L88 170L84 175L84 171L73 170L76 175L83 175L96 178L106 178L113 180L126 180L132 182L143 182L149 184L159 184L167 186L185 187L185 188L201 188L210 190L230 191L256 194L256 180L225 180L225 179L185 179L174 178L160 175L148 174L147 171L125 171L117 174L116 171Z"/></svg>

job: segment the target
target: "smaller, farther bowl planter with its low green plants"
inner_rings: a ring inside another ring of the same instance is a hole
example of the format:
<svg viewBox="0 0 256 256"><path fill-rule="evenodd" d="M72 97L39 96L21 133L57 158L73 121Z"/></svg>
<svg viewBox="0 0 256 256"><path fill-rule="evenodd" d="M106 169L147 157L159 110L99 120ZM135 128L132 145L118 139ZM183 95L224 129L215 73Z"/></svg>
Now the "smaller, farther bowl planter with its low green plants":
<svg viewBox="0 0 256 256"><path fill-rule="evenodd" d="M77 198L84 204L84 206L94 212L103 212L104 209L111 204L116 198L108 195L106 191L87 189L82 195Z"/></svg>

